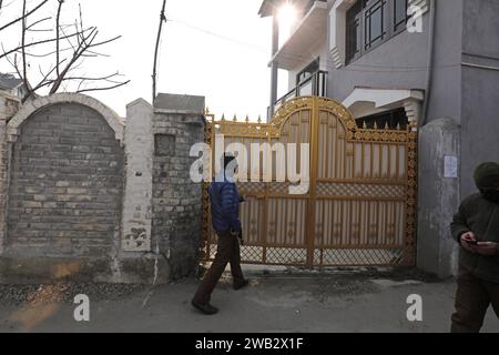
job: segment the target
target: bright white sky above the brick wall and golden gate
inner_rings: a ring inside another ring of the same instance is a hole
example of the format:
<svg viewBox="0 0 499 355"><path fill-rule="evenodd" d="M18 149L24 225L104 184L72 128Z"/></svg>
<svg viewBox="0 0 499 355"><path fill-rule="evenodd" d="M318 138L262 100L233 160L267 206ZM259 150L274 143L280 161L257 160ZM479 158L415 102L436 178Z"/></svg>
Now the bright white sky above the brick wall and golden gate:
<svg viewBox="0 0 499 355"><path fill-rule="evenodd" d="M29 4L38 1L30 0ZM89 94L120 115L125 114L126 103L138 98L151 102L162 0L67 0L63 16L68 21L78 17L79 3L85 26L96 26L102 38L122 36L104 48L109 58L88 59L82 67L84 73L119 71L131 80L126 87ZM265 118L269 102L272 20L259 18L261 4L262 0L169 0L157 91L204 95L210 111L217 115ZM3 14L7 13L6 10ZM3 14L0 23L4 22ZM16 33L9 36L14 38ZM8 71L6 65L0 62L0 71ZM285 93L286 84L287 77L282 73L279 93Z"/></svg>

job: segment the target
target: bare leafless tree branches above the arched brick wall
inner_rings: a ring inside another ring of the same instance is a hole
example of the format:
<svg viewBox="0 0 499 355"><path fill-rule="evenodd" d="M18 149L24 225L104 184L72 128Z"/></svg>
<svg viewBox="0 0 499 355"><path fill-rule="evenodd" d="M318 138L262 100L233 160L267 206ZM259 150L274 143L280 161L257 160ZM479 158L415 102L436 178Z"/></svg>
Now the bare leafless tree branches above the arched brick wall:
<svg viewBox="0 0 499 355"><path fill-rule="evenodd" d="M34 8L28 9L27 0L22 0L21 13L0 26L0 60L7 60L24 82L27 94L22 98L23 101L41 89L49 94L59 91L88 92L111 90L130 82L123 81L119 72L103 75L82 73L86 59L108 57L99 52L100 49L119 40L121 36L101 39L96 27L84 27L81 6L79 17L71 24L63 24L65 2L67 0L41 0ZM2 3L0 0L0 10ZM55 18L44 17L41 12L48 3L53 3ZM6 48L2 31L12 30L19 23L19 42ZM34 72L37 67L38 72ZM39 78L35 83L30 81L34 77ZM69 83L74 89L68 89Z"/></svg>

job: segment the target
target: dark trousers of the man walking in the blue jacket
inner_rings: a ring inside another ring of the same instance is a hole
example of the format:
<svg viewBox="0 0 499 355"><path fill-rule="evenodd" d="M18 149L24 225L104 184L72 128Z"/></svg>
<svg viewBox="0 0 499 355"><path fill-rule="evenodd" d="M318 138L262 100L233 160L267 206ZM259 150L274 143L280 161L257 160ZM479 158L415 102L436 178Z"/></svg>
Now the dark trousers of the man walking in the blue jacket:
<svg viewBox="0 0 499 355"><path fill-rule="evenodd" d="M215 290L220 277L224 273L225 267L231 263L231 273L234 285L240 285L244 282L243 271L241 270L241 250L240 241L230 232L221 232L218 235L218 245L216 256L212 266L203 278L197 292L194 296L194 302L208 303L213 290Z"/></svg>

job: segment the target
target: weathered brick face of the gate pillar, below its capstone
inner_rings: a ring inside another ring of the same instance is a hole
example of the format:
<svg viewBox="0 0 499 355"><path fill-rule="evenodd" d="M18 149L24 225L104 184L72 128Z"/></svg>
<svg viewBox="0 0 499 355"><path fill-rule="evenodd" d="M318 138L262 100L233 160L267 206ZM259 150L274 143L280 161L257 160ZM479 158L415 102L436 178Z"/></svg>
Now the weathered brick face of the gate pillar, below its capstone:
<svg viewBox="0 0 499 355"><path fill-rule="evenodd" d="M202 187L191 181L190 150L203 141L200 116L154 115L152 240L167 257L172 278L192 275L198 264Z"/></svg>

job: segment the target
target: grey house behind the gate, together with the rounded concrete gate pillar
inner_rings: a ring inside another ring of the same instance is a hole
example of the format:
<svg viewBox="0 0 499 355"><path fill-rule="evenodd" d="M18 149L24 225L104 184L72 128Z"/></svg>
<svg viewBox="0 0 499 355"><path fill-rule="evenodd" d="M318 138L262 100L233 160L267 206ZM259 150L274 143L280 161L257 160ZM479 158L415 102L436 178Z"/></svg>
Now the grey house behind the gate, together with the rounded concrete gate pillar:
<svg viewBox="0 0 499 355"><path fill-rule="evenodd" d="M278 43L286 2L299 18ZM448 224L476 190L475 166L499 161L499 3L265 0L259 14L274 19L269 116L294 97L322 95L342 102L360 128L418 126L418 266L455 274ZM289 78L283 98L279 69Z"/></svg>

